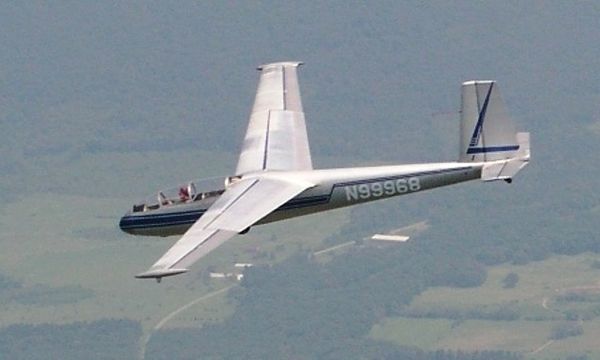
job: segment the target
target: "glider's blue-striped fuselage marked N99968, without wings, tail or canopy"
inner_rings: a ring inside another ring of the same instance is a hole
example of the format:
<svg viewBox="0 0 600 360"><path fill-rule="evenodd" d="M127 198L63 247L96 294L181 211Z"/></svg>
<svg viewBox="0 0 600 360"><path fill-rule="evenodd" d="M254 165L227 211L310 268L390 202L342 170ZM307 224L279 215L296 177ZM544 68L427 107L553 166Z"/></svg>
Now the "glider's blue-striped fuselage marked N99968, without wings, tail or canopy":
<svg viewBox="0 0 600 360"><path fill-rule="evenodd" d="M480 163L449 162L312 171L269 171L248 174L244 178L275 177L315 184L257 223L265 224L479 179L481 169ZM222 190L214 189L213 193ZM121 218L119 226L123 231L134 235L183 234L217 199L218 196L190 199L164 204L156 209L131 211Z"/></svg>

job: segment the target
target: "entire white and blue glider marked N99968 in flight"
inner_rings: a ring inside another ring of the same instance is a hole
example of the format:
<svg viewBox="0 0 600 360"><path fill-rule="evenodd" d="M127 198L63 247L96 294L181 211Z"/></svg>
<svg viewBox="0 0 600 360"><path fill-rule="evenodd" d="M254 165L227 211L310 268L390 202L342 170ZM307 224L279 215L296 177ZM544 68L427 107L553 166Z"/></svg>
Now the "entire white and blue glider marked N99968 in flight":
<svg viewBox="0 0 600 360"><path fill-rule="evenodd" d="M183 234L136 277L160 281L184 273L256 224L474 179L510 183L529 162L529 133L516 132L496 83L469 81L462 84L458 161L313 170L299 65L258 68L260 81L234 176L160 191L123 216L119 226L131 234Z"/></svg>

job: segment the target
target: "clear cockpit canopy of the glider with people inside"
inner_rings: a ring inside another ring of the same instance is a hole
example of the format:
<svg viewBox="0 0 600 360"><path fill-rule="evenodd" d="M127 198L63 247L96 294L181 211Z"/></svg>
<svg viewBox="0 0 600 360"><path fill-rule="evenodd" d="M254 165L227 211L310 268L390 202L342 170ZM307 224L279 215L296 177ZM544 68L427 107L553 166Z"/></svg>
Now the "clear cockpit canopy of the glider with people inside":
<svg viewBox="0 0 600 360"><path fill-rule="evenodd" d="M221 195L231 183L230 177L215 177L187 183L158 191L145 201L133 205L133 212L156 210L165 206L181 205Z"/></svg>

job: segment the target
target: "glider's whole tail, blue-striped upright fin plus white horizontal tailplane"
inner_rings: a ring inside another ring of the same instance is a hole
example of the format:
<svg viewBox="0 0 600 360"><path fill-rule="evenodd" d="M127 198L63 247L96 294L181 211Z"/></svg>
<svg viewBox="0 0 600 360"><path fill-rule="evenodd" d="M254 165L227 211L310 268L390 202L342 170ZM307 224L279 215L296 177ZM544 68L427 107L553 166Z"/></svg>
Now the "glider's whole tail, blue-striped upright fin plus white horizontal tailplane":
<svg viewBox="0 0 600 360"><path fill-rule="evenodd" d="M488 163L483 180L509 180L529 157L529 133L517 133L496 82L463 83L459 161Z"/></svg>

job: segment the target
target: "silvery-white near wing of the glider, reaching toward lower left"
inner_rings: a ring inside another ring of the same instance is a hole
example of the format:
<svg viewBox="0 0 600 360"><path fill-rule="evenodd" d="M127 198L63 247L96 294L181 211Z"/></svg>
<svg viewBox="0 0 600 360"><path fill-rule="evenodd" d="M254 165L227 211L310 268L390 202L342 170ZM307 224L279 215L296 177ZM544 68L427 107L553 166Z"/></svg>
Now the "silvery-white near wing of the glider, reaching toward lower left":
<svg viewBox="0 0 600 360"><path fill-rule="evenodd" d="M311 186L274 178L232 184L175 245L136 277L160 279L186 272L192 263Z"/></svg>

